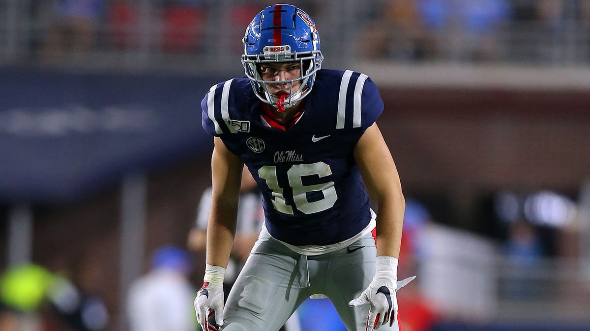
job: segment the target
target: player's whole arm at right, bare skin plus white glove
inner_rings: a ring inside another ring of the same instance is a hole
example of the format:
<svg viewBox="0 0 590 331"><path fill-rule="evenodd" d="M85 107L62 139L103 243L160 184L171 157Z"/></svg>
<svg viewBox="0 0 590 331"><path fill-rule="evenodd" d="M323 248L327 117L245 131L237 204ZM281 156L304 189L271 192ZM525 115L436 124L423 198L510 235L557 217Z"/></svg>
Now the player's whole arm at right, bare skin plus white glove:
<svg viewBox="0 0 590 331"><path fill-rule="evenodd" d="M372 331L382 325L397 325L395 293L413 279L397 282L405 200L394 159L377 124L373 123L360 137L354 156L369 198L378 206L377 266L369 286L349 305L371 304L366 330Z"/></svg>

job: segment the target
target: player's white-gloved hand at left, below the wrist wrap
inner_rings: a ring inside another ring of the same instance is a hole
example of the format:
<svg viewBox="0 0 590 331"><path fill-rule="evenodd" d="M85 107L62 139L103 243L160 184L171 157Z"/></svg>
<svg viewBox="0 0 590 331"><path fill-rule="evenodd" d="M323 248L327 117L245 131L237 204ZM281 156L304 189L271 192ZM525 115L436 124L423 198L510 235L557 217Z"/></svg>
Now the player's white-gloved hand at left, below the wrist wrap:
<svg viewBox="0 0 590 331"><path fill-rule="evenodd" d="M223 325L223 285L204 282L195 298L196 320L204 331L217 331ZM215 314L215 324L208 319Z"/></svg>

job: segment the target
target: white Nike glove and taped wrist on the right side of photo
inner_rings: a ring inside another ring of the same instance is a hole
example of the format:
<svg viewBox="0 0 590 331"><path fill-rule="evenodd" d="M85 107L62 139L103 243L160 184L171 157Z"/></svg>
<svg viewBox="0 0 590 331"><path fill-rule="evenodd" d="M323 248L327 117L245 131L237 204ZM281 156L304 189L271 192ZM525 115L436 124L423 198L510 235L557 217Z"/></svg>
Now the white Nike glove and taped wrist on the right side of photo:
<svg viewBox="0 0 590 331"><path fill-rule="evenodd" d="M369 286L360 296L348 303L351 307L371 304L367 317L366 331L379 329L379 326L393 326L398 315L397 290L406 286L416 276L396 282L398 259L392 256L377 257L377 271Z"/></svg>

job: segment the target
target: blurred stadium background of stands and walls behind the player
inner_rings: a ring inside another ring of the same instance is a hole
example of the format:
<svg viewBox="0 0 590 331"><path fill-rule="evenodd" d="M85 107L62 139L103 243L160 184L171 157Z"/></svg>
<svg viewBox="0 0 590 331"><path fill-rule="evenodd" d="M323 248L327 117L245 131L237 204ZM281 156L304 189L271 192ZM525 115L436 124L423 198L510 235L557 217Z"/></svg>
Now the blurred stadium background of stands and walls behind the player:
<svg viewBox="0 0 590 331"><path fill-rule="evenodd" d="M590 0L290 3L324 67L368 74L385 102L398 274L418 275L402 330L590 330ZM0 330L131 330L140 277L200 286L199 102L243 76L270 4L0 0ZM316 306L301 330L342 330Z"/></svg>

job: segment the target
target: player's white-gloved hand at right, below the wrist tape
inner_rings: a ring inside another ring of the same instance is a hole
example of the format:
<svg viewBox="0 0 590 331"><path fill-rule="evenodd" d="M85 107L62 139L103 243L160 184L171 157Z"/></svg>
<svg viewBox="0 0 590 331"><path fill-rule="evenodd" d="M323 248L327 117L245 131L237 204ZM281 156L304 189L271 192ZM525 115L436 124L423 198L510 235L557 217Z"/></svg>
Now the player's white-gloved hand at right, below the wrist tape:
<svg viewBox="0 0 590 331"><path fill-rule="evenodd" d="M363 293L360 293L358 298L350 300L348 304L352 307L365 303L371 304L366 331L379 329L379 326L386 324L389 324L389 326L394 325L398 315L398 299L395 293L414 278L416 276L395 282L395 280L375 277L369 287Z"/></svg>

